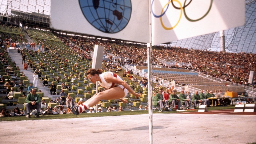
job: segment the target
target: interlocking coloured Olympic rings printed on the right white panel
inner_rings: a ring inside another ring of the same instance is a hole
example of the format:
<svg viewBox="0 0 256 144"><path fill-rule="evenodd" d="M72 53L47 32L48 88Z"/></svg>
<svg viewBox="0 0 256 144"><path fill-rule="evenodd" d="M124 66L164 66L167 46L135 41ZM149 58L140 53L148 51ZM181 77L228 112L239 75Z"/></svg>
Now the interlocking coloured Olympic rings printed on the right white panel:
<svg viewBox="0 0 256 144"><path fill-rule="evenodd" d="M176 6L173 4L173 1L177 2L177 3L180 5L180 7L176 7ZM210 3L210 5L209 5L209 8L208 8L207 12L206 12L202 17L200 17L199 19L191 19L191 18L189 18L189 17L187 16L187 13L185 12L185 8L192 2L192 0L190 0L188 4L186 4L187 0L185 0L185 1L184 1L184 6L182 6L182 4L180 3L179 0L171 0L171 1L168 0L168 3L164 5L164 7L163 7L163 9L162 9L160 15L155 15L155 13L153 12L153 2L154 2L154 0L152 0L152 4L151 4L151 12L152 12L153 16L156 17L156 18L159 18L159 17L160 17L160 23L161 23L162 27L163 27L164 29L166 29L166 30L171 30L171 29L175 28L175 27L177 26L177 24L180 22L183 9L184 9L184 16L185 16L185 18L186 18L188 21L191 21L191 22L199 21L199 20L203 19L205 16L208 15L208 13L210 12L210 10L211 10L211 8L212 8L213 0L211 0L211 3ZM180 12L180 17L179 17L178 22L177 22L173 27L169 27L169 28L168 28L168 27L165 27L165 25L163 24L162 16L165 15L165 12L166 12L167 9L169 8L169 4L170 4L170 3L172 3L173 8L175 8L175 9L180 9L181 12ZM167 7L167 8L164 10L165 7Z"/></svg>

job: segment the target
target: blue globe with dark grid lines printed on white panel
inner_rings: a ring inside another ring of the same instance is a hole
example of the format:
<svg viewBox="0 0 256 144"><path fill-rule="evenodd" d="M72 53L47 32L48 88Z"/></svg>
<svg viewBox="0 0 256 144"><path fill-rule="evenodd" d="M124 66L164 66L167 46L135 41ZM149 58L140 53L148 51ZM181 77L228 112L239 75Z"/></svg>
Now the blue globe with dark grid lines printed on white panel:
<svg viewBox="0 0 256 144"><path fill-rule="evenodd" d="M131 0L79 0L87 21L99 31L117 33L129 23Z"/></svg>

